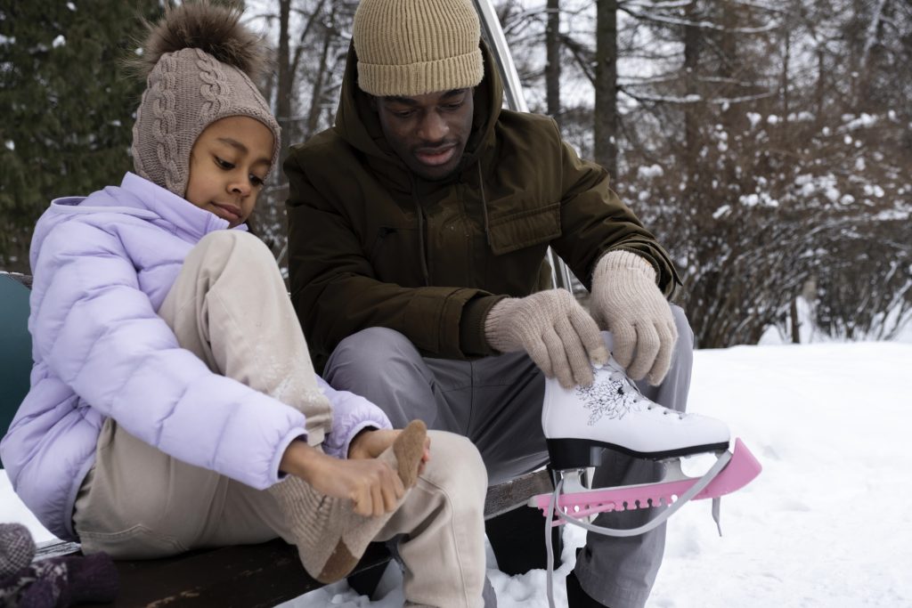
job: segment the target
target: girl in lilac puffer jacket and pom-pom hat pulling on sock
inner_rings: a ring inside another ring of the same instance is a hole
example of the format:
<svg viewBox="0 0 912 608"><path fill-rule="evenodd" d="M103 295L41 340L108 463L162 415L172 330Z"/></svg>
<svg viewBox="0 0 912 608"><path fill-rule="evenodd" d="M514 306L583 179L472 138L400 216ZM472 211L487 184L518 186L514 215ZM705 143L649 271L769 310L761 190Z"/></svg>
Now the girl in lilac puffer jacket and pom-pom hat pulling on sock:
<svg viewBox="0 0 912 608"><path fill-rule="evenodd" d="M37 222L35 365L7 472L86 553L281 536L331 582L402 534L409 603L481 605L477 450L420 422L393 431L316 377L275 261L245 232L280 138L239 18L185 3L150 28L136 173Z"/></svg>

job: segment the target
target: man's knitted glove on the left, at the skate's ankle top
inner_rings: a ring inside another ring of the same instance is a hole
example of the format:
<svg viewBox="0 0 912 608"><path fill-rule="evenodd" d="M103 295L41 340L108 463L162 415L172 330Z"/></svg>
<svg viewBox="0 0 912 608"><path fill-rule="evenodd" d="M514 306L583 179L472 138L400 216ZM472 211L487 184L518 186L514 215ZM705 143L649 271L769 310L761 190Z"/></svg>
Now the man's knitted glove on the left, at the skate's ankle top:
<svg viewBox="0 0 912 608"><path fill-rule="evenodd" d="M561 386L588 386L592 366L608 361L598 325L565 289L501 300L484 320L484 336L502 353L524 350Z"/></svg>

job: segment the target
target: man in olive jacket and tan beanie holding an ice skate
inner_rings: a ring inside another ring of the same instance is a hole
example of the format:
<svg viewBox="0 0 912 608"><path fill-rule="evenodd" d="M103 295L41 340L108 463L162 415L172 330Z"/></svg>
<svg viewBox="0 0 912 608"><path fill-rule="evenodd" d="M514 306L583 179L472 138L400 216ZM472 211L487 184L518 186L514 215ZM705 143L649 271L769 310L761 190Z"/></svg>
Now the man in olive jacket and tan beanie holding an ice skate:
<svg viewBox="0 0 912 608"><path fill-rule="evenodd" d="M666 407L685 407L692 347L666 300L679 283L668 254L606 171L553 120L501 109L502 93L470 0L362 0L335 127L285 162L292 298L317 369L394 425L418 417L472 438L492 483L547 462L544 376L591 384L608 358L599 325ZM548 246L591 288L591 316L551 289ZM605 460L595 486L655 474ZM512 517L533 518L526 534L541 539L534 510ZM589 535L570 605L644 605L664 533ZM505 566L516 556L498 544L504 572L533 565Z"/></svg>

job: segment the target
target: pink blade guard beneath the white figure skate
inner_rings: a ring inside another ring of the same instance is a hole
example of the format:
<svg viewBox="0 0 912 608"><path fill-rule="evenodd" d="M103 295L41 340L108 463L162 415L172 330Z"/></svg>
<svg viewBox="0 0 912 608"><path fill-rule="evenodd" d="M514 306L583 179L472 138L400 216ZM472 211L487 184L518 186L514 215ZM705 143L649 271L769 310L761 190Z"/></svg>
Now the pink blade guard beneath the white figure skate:
<svg viewBox="0 0 912 608"><path fill-rule="evenodd" d="M715 479L710 481L706 488L693 497L693 500L716 499L725 494L731 494L750 483L760 475L761 470L762 466L751 454L751 450L744 445L740 438L736 438L729 463ZM657 483L562 494L557 500L555 509L558 513L564 512L576 518L582 518L600 512L668 507L700 480L687 477L680 472L679 467L676 468L674 475L683 479L667 480L668 478L666 478ZM551 494L538 494L529 500L528 505L541 509L546 514L549 500L551 500ZM554 520L554 525L562 523L564 521L559 517Z"/></svg>

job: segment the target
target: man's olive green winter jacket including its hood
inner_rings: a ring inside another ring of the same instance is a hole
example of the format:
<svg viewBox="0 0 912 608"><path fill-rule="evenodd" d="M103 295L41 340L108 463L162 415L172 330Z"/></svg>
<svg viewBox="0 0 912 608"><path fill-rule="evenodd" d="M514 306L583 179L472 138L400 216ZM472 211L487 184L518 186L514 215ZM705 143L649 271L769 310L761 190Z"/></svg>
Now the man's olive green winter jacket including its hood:
<svg viewBox="0 0 912 608"><path fill-rule="evenodd" d="M407 335L425 356L492 355L485 316L507 295L550 287L549 245L586 287L603 252L626 249L674 289L668 254L606 171L580 160L554 120L501 109L483 50L472 135L451 180L420 180L389 148L356 83L353 49L335 127L285 161L291 294L317 370L371 326Z"/></svg>

